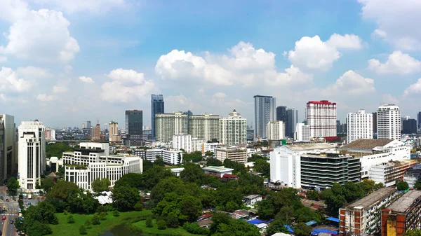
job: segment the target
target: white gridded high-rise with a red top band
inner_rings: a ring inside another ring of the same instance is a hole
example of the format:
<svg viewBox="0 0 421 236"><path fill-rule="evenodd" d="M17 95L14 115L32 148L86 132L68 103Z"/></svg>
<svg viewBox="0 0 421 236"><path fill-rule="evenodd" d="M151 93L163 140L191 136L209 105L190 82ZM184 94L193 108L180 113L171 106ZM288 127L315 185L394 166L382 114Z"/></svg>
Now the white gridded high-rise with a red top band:
<svg viewBox="0 0 421 236"><path fill-rule="evenodd" d="M335 137L336 103L327 100L307 102L307 124L310 137Z"/></svg>

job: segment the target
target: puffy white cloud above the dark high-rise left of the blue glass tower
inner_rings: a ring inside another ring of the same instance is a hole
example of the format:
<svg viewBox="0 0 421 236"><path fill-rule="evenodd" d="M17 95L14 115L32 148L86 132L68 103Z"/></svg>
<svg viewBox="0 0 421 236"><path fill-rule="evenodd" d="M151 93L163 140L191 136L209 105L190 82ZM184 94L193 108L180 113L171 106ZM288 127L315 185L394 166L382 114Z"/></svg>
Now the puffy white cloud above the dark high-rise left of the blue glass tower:
<svg viewBox="0 0 421 236"><path fill-rule="evenodd" d="M114 69L106 75L113 81L102 84L101 97L106 102L131 102L134 99L149 97L157 90L153 81L143 73L128 69Z"/></svg>

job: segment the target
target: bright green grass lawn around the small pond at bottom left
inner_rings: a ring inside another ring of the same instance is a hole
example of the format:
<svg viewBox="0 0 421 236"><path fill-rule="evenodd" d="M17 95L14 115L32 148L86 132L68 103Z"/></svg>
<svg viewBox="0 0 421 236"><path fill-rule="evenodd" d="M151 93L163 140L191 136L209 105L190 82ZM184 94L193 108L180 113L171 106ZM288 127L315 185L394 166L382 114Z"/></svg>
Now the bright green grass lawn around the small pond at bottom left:
<svg viewBox="0 0 421 236"><path fill-rule="evenodd" d="M151 211L128 211L120 212L120 216L114 217L112 212L108 212L107 219L101 221L100 225L91 225L91 228L88 229L88 234L86 236L98 236L103 232L113 228L116 225L121 225L128 221L127 217L139 216L144 214L150 214ZM93 215L79 215L73 214L74 223L67 223L67 215L63 213L56 214L58 218L58 225L51 225L53 230L52 236L75 236L79 235L79 227L83 225L86 219L92 220ZM144 221L145 223L145 221ZM145 227L146 228L146 227Z"/></svg>

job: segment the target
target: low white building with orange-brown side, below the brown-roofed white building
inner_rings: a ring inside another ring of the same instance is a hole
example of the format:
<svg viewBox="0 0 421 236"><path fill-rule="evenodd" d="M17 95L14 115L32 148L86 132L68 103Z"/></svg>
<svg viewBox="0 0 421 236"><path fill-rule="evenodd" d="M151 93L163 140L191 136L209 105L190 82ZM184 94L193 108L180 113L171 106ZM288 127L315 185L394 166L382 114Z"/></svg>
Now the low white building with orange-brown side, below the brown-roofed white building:
<svg viewBox="0 0 421 236"><path fill-rule="evenodd" d="M410 167L417 165L416 160L395 160L370 167L369 178L376 183L383 183L385 186L394 186L403 179L403 174Z"/></svg>

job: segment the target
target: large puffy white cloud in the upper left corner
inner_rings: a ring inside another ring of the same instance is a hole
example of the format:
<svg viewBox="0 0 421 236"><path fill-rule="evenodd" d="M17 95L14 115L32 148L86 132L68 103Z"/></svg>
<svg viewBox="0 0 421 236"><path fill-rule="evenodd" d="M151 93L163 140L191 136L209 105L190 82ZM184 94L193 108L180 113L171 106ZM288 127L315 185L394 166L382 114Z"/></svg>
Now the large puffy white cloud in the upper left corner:
<svg viewBox="0 0 421 236"><path fill-rule="evenodd" d="M0 8L0 15L6 13L3 19L11 22L5 34L8 43L4 54L45 62L69 62L79 52L79 44L69 33L70 22L60 11L31 11L20 0L3 1Z"/></svg>

